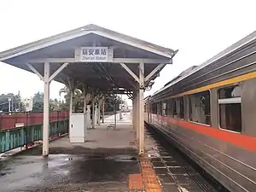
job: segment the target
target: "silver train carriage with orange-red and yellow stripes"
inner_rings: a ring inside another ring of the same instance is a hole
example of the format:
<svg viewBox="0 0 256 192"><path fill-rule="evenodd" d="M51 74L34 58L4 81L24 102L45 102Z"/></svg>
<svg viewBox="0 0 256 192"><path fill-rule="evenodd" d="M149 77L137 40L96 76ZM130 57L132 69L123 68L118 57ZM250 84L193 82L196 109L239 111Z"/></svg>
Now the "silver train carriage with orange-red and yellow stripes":
<svg viewBox="0 0 256 192"><path fill-rule="evenodd" d="M145 121L230 191L256 191L256 32L149 96Z"/></svg>

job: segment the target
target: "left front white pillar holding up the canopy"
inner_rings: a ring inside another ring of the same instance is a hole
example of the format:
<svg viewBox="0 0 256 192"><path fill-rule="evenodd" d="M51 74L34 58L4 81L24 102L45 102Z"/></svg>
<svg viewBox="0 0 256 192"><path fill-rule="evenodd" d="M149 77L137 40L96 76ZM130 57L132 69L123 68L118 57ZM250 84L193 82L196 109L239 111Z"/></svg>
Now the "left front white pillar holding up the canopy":
<svg viewBox="0 0 256 192"><path fill-rule="evenodd" d="M43 156L49 154L49 62L44 62Z"/></svg>

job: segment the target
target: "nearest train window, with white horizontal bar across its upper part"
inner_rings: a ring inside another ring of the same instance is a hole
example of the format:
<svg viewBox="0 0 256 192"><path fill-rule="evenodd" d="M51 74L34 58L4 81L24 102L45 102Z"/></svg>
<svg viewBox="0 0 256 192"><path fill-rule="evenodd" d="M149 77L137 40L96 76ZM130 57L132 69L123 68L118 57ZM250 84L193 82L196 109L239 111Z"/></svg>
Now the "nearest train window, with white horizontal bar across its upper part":
<svg viewBox="0 0 256 192"><path fill-rule="evenodd" d="M239 85L218 90L219 126L241 132L241 89Z"/></svg>

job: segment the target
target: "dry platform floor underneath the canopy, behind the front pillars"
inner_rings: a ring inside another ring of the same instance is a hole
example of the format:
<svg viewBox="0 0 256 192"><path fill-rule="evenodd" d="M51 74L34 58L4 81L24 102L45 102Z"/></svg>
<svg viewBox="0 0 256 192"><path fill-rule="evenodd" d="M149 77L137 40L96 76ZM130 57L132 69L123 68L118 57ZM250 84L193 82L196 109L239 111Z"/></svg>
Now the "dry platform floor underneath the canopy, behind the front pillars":
<svg viewBox="0 0 256 192"><path fill-rule="evenodd" d="M135 133L130 113L123 115L114 128L114 117L110 116L96 129L87 131L85 143L70 143L68 137L49 143L49 154L137 154Z"/></svg>

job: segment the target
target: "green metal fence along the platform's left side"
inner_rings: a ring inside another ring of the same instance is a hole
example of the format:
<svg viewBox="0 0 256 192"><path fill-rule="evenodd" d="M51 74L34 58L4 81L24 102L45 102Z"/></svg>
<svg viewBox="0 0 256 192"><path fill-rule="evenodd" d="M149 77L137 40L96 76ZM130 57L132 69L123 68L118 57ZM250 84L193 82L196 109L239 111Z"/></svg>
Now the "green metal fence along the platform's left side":
<svg viewBox="0 0 256 192"><path fill-rule="evenodd" d="M68 119L49 123L49 137L68 132ZM0 131L0 153L43 139L43 125L27 125Z"/></svg>

